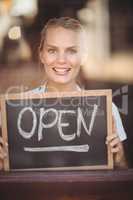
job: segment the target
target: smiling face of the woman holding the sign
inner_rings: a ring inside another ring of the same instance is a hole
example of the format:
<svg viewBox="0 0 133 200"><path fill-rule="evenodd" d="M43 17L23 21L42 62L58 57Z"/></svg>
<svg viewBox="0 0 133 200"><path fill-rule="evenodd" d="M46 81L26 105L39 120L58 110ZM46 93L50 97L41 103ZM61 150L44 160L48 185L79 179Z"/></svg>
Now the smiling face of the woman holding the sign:
<svg viewBox="0 0 133 200"><path fill-rule="evenodd" d="M40 52L47 80L54 84L75 84L81 65L80 33L63 27L50 27Z"/></svg>

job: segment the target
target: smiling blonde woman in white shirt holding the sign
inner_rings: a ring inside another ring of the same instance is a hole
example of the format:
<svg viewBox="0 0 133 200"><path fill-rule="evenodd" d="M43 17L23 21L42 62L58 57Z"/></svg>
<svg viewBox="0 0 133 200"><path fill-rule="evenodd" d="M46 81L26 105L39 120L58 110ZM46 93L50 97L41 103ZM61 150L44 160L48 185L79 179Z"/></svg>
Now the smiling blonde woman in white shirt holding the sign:
<svg viewBox="0 0 133 200"><path fill-rule="evenodd" d="M77 77L86 52L84 36L84 29L78 20L62 17L48 21L42 30L39 47L39 57L44 66L47 81L30 93L81 90L77 84ZM122 141L126 139L126 134L114 104L112 104L112 111L113 133L107 137L106 144L114 154L115 165L125 167ZM3 148L0 152L3 159Z"/></svg>

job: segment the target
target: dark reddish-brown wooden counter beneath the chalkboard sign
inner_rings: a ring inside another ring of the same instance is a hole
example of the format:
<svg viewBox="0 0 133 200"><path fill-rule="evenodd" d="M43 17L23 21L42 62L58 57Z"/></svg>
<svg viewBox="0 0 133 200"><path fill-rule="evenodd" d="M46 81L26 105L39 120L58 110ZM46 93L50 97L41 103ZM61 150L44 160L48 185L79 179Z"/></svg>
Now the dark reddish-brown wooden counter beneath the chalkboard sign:
<svg viewBox="0 0 133 200"><path fill-rule="evenodd" d="M132 200L133 170L1 172L0 200Z"/></svg>

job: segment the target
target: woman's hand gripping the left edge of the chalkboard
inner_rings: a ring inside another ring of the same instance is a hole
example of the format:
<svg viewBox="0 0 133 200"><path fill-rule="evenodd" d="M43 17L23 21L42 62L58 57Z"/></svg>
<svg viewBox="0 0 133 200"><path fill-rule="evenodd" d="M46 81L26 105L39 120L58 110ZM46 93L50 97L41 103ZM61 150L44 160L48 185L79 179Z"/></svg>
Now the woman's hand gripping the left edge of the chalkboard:
<svg viewBox="0 0 133 200"><path fill-rule="evenodd" d="M0 137L0 170L3 169L4 159L7 157L7 143Z"/></svg>

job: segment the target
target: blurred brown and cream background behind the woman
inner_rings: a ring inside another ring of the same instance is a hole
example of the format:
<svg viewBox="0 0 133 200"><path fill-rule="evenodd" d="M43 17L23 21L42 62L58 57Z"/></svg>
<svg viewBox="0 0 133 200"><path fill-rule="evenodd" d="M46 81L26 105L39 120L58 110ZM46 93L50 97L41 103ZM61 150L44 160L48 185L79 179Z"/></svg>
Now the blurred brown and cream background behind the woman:
<svg viewBox="0 0 133 200"><path fill-rule="evenodd" d="M132 0L0 0L0 94L43 83L40 31L49 18L60 16L78 18L87 31L88 56L81 80L86 89L112 89L133 167Z"/></svg>

